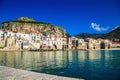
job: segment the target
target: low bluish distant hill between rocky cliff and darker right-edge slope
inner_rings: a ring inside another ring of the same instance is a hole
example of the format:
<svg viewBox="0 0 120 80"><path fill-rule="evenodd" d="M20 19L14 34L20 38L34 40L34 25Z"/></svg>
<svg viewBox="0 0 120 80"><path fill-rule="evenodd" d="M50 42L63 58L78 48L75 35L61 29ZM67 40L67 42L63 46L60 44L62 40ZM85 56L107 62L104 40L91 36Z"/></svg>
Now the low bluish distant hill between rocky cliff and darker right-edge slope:
<svg viewBox="0 0 120 80"><path fill-rule="evenodd" d="M75 37L78 37L78 38L104 38L105 34L89 34L89 33L81 33L81 34L78 34L76 35Z"/></svg>

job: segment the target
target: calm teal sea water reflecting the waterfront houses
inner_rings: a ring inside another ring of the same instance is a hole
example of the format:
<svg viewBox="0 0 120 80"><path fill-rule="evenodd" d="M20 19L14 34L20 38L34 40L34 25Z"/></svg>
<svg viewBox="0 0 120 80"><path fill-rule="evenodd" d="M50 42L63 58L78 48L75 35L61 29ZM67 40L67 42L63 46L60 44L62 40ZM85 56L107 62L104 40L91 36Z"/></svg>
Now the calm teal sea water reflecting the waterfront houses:
<svg viewBox="0 0 120 80"><path fill-rule="evenodd" d="M0 65L86 80L120 80L120 50L0 52Z"/></svg>

